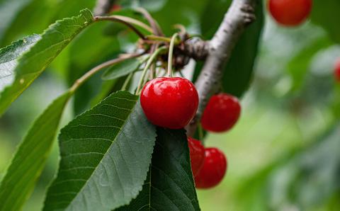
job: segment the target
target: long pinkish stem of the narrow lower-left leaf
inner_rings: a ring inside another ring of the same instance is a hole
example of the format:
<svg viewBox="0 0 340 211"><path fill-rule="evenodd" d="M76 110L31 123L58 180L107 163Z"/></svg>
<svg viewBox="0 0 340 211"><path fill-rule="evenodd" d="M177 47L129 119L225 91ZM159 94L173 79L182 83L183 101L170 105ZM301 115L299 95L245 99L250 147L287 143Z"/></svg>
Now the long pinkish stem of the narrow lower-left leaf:
<svg viewBox="0 0 340 211"><path fill-rule="evenodd" d="M74 82L74 84L71 86L69 91L71 91L72 93L74 91L76 91L78 89L78 87L81 86L81 84L84 84L85 81L87 81L89 78L91 78L91 76L93 76L94 74L99 72L101 69L106 68L106 67L110 67L113 64L117 64L119 62L123 62L126 59L130 59L130 58L134 58L134 57L140 57L140 55L142 55L142 54L133 54L133 55L129 55L129 56L126 56L126 57L111 59L111 60L108 60L107 62L103 62L102 64L99 64L98 66L90 69L89 72L86 72L86 74L81 76L79 79L77 79L77 81Z"/></svg>

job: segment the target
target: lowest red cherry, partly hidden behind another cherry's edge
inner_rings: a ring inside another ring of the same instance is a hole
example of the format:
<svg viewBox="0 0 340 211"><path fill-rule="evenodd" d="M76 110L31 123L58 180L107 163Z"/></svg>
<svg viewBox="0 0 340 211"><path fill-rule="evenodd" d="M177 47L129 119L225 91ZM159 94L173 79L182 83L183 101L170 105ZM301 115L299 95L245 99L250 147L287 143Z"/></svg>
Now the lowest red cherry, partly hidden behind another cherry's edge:
<svg viewBox="0 0 340 211"><path fill-rule="evenodd" d="M222 181L227 171L225 154L217 148L206 148L202 169L195 177L196 188L212 188Z"/></svg>

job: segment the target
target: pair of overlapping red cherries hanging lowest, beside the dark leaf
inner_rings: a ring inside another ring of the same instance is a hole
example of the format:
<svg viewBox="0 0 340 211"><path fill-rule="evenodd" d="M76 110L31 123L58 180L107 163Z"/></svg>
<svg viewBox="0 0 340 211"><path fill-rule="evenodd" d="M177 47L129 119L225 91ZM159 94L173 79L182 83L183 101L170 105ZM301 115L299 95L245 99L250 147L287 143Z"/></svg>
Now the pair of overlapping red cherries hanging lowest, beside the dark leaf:
<svg viewBox="0 0 340 211"><path fill-rule="evenodd" d="M225 154L217 148L204 148L200 141L188 137L191 169L196 188L217 186L227 171Z"/></svg>

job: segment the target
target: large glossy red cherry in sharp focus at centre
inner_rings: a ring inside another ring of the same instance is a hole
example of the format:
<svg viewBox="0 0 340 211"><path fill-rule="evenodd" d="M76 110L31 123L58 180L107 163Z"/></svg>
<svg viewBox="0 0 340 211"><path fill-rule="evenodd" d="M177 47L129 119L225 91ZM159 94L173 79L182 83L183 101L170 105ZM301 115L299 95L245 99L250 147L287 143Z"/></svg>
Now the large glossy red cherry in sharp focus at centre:
<svg viewBox="0 0 340 211"><path fill-rule="evenodd" d="M162 77L145 84L140 103L154 125L179 129L196 114L198 93L188 79Z"/></svg>

